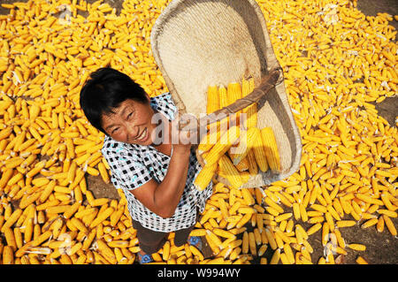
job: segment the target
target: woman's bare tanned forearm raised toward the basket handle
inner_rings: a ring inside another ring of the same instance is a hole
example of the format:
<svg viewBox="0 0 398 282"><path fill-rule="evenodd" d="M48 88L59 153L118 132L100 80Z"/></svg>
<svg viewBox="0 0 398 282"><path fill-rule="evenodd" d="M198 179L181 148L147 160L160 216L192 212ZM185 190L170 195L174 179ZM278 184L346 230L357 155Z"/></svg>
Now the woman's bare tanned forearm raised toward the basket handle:
<svg viewBox="0 0 398 282"><path fill-rule="evenodd" d="M173 152L165 179L155 190L153 201L162 217L172 217L180 202L187 182L189 153L189 150Z"/></svg>

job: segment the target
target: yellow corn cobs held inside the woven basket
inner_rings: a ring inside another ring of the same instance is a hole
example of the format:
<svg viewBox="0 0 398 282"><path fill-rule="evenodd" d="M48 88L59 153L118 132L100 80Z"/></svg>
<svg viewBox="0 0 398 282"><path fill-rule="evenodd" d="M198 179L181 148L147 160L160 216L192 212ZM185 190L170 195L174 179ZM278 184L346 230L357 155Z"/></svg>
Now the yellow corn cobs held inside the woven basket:
<svg viewBox="0 0 398 282"><path fill-rule="evenodd" d="M234 103L254 90L254 80L243 79L224 86L208 88L207 114ZM203 190L217 173L231 187L239 188L258 170L280 170L279 149L271 127L257 127L256 103L210 124L198 145L203 157L203 170L195 179L195 187Z"/></svg>

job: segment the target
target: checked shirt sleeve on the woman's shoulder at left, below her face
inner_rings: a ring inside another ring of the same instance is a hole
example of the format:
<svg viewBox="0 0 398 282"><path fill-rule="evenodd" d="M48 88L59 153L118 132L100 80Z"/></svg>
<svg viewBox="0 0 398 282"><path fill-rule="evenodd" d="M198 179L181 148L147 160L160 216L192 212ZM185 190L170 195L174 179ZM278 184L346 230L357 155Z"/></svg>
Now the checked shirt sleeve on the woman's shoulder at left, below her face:
<svg viewBox="0 0 398 282"><path fill-rule="evenodd" d="M111 181L115 187L134 190L152 179L140 157L126 149L103 149L103 156L111 167Z"/></svg>

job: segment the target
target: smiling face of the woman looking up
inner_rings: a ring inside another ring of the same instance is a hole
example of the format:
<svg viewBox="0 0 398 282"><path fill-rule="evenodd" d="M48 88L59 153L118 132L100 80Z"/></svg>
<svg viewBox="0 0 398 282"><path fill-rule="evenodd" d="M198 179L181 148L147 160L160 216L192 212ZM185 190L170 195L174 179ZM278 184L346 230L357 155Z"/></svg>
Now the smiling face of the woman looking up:
<svg viewBox="0 0 398 282"><path fill-rule="evenodd" d="M113 140L149 146L156 124L151 123L153 109L149 103L126 100L113 113L103 114L103 129Z"/></svg>

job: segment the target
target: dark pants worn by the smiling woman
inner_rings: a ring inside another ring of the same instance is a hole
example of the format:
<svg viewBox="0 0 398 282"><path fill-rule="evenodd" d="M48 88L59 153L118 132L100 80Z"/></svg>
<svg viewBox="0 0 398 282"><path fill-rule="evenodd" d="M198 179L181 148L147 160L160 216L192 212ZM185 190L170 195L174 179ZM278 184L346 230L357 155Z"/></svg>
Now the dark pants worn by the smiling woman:
<svg viewBox="0 0 398 282"><path fill-rule="evenodd" d="M199 211L196 213L199 217ZM142 251L146 254L156 253L165 245L169 232L157 232L143 227L138 221L133 221L133 227L137 230L137 238ZM185 229L175 231L174 245L180 247L187 243L189 233L194 229L194 225Z"/></svg>

